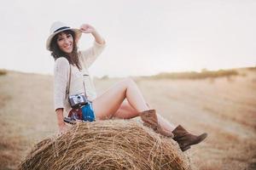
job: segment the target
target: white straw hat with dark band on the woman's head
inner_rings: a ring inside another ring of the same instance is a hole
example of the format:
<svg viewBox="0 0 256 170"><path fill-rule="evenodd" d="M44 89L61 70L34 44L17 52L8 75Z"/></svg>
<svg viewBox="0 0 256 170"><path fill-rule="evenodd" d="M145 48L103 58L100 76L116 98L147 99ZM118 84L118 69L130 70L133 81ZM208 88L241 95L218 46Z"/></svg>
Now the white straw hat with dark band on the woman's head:
<svg viewBox="0 0 256 170"><path fill-rule="evenodd" d="M49 50L49 46L50 46L50 42L52 40L53 37L55 37L55 35L61 31L65 31L65 30L72 30L74 31L75 35L76 35L76 39L75 42L79 41L79 38L82 35L82 32L77 29L77 28L71 28L69 26L67 26L67 24L62 23L61 21L56 21L54 22L49 29L49 37L47 38L46 41L46 48Z"/></svg>

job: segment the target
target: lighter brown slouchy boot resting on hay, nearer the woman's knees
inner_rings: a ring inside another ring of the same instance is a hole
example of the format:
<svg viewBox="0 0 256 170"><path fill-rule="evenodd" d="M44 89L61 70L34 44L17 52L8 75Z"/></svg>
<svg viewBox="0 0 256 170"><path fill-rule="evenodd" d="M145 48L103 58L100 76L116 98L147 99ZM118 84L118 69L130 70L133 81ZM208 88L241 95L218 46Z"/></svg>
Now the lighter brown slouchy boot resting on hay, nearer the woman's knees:
<svg viewBox="0 0 256 170"><path fill-rule="evenodd" d="M139 113L143 120L143 125L147 127L153 128L156 133L160 133L166 137L173 138L173 133L167 131L163 127L160 126L157 120L157 115L155 110L148 110Z"/></svg>

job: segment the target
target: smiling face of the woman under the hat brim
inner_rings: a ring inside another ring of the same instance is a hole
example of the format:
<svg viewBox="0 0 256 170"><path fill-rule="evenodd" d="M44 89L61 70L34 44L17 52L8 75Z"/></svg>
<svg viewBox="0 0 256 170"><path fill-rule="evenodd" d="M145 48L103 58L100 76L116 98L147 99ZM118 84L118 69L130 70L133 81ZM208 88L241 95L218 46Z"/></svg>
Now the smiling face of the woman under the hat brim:
<svg viewBox="0 0 256 170"><path fill-rule="evenodd" d="M71 34L61 32L58 34L57 44L61 51L66 54L71 54L73 51L73 36Z"/></svg>

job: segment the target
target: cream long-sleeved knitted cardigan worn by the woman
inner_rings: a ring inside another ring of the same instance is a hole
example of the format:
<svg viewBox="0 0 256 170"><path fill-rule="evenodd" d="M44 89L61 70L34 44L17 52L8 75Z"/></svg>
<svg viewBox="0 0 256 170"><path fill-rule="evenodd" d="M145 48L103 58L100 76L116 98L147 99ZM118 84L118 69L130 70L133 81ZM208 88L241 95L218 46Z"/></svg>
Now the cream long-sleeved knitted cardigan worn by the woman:
<svg viewBox="0 0 256 170"><path fill-rule="evenodd" d="M70 91L67 94L70 65L66 58L60 57L55 60L54 67L54 106L55 110L64 108L67 113L71 110L68 103L68 95L80 94L85 92L89 100L96 98L96 88L90 77L88 68L96 60L97 56L102 53L106 47L106 42L100 44L94 42L91 48L85 51L79 51L79 62L82 70L79 71L78 67L71 65L71 79ZM84 82L84 84L83 84Z"/></svg>

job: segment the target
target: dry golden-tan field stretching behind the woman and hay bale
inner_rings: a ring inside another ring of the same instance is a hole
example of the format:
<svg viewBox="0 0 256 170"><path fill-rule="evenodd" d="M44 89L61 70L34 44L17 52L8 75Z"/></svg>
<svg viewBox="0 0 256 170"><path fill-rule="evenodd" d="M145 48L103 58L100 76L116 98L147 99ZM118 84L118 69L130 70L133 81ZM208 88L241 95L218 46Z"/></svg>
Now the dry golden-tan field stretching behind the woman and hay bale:
<svg viewBox="0 0 256 170"><path fill-rule="evenodd" d="M145 99L169 121L208 138L189 155L199 169L256 169L256 71L229 78L135 78ZM119 79L96 79L98 93ZM33 144L57 132L53 77L0 76L0 169L16 169Z"/></svg>

